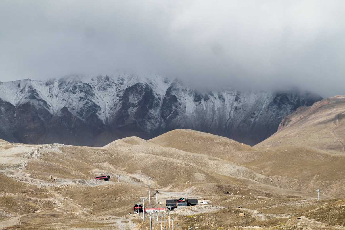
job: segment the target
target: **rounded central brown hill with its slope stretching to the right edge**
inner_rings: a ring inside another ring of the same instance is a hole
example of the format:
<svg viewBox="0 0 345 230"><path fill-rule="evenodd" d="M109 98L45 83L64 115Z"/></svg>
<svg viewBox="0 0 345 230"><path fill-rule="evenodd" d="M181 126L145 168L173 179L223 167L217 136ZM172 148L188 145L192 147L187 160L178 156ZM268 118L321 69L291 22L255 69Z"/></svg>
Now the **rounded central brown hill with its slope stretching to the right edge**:
<svg viewBox="0 0 345 230"><path fill-rule="evenodd" d="M304 192L322 188L329 196L344 195L340 185L345 183L345 155L302 145L253 148L228 138L186 129L170 131L149 142L231 162L252 173L244 172L241 177L270 186ZM214 164L214 170L219 167ZM250 176L253 173L255 177Z"/></svg>

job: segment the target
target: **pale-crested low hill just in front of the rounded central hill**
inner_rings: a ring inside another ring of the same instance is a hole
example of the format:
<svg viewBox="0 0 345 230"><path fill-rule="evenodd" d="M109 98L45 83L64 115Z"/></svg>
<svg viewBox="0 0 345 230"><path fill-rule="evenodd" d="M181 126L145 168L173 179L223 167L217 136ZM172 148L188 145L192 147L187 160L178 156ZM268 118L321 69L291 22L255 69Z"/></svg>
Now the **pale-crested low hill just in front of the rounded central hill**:
<svg viewBox="0 0 345 230"><path fill-rule="evenodd" d="M193 130L186 131L194 132ZM203 134L207 133L200 133L201 136ZM102 149L106 150L105 154L109 154L108 162L116 165L116 168L126 169L127 173L136 175L138 179L144 175L150 175L154 178L152 182L156 186L166 187L186 182L205 183L222 180L233 182L233 178L229 177L242 176L244 172L248 178L257 177L252 170L231 161L211 157L211 154L162 147L138 137L119 139ZM95 163L97 159L92 159L92 161Z"/></svg>

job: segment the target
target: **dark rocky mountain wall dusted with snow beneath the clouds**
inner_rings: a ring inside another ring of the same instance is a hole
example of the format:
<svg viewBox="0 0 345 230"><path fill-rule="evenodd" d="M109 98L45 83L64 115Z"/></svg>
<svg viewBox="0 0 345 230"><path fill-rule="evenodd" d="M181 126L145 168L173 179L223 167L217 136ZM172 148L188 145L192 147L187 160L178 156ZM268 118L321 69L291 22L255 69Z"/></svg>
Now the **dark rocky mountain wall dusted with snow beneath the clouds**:
<svg viewBox="0 0 345 230"><path fill-rule="evenodd" d="M155 75L0 82L0 138L104 146L187 128L254 145L299 106L321 99L296 91L198 92Z"/></svg>

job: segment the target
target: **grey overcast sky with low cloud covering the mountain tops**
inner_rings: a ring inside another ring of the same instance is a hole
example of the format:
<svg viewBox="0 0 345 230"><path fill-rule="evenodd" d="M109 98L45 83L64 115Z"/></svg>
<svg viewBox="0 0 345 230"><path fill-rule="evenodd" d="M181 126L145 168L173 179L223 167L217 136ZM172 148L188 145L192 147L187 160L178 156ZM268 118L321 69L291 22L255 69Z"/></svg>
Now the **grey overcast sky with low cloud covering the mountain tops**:
<svg viewBox="0 0 345 230"><path fill-rule="evenodd" d="M345 1L0 1L0 81L119 69L345 94Z"/></svg>

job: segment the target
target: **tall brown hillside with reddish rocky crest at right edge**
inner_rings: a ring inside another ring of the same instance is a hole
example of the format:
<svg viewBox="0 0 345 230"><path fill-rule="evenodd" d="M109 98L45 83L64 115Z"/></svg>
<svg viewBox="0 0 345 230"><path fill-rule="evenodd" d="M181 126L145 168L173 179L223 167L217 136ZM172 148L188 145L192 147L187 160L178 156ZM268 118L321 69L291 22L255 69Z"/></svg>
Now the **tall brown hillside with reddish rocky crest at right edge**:
<svg viewBox="0 0 345 230"><path fill-rule="evenodd" d="M309 146L345 153L345 96L335 96L300 107L280 124L278 131L255 148Z"/></svg>

